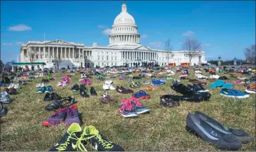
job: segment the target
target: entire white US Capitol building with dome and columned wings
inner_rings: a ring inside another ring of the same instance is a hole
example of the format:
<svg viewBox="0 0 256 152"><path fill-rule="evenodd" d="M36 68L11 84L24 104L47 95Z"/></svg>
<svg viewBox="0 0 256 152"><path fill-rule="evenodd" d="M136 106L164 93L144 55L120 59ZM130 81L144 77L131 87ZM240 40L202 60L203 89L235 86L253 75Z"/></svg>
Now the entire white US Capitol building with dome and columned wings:
<svg viewBox="0 0 256 152"><path fill-rule="evenodd" d="M29 62L28 52L35 51L34 62L44 62L44 68L53 68L54 60L61 60L59 68L69 66L104 67L125 66L133 67L134 63L157 62L159 66L167 66L168 61L180 65L189 62L187 51L172 51L151 49L140 44L140 34L135 19L127 12L125 1L121 5L121 13L116 16L109 34L109 45L84 46L63 40L55 41L29 41L20 48L21 62ZM169 57L169 60L168 60ZM199 59L200 58L200 59ZM205 62L203 51L193 55L191 64ZM29 65L28 65L29 66Z"/></svg>

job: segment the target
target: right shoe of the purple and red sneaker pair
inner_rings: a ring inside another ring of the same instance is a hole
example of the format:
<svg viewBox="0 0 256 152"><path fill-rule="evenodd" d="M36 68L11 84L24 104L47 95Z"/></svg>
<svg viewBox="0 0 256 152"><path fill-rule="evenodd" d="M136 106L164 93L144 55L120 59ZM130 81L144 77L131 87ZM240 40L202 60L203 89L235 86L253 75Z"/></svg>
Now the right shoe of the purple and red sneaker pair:
<svg viewBox="0 0 256 152"><path fill-rule="evenodd" d="M67 117L65 119L65 123L68 125L71 125L72 123L78 123L79 125L81 124L77 105L72 105L67 109Z"/></svg>

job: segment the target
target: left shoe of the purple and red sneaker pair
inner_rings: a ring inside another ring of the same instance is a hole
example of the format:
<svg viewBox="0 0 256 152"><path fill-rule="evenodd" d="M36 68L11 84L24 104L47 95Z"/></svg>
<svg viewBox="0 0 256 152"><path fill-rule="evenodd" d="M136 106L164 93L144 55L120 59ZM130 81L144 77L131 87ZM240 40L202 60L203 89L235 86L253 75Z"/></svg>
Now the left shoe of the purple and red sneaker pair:
<svg viewBox="0 0 256 152"><path fill-rule="evenodd" d="M67 108L61 108L60 110L57 110L54 115L52 115L47 120L44 120L42 125L44 126L50 126L50 125L56 125L58 123L61 123L61 121L64 121L65 117L67 116Z"/></svg>

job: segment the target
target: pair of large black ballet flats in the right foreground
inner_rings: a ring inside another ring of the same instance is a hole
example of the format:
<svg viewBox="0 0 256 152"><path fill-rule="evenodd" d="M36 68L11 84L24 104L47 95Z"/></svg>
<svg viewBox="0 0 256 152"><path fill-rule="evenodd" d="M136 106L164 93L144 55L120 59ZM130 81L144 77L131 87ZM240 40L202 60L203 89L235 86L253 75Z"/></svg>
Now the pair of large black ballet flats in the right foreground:
<svg viewBox="0 0 256 152"><path fill-rule="evenodd" d="M246 131L225 127L210 116L198 111L187 115L185 129L219 149L240 149L242 142L252 140Z"/></svg>

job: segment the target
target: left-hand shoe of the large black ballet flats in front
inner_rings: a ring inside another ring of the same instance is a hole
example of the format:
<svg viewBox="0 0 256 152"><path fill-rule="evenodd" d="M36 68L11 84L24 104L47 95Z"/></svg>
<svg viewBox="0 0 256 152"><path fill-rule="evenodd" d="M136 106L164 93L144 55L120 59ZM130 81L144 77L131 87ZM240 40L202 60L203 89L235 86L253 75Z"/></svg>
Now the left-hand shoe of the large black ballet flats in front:
<svg viewBox="0 0 256 152"><path fill-rule="evenodd" d="M185 129L198 135L202 140L214 144L219 149L240 149L242 143L234 134L224 134L217 127L212 127L195 114L188 114Z"/></svg>

